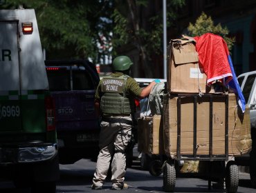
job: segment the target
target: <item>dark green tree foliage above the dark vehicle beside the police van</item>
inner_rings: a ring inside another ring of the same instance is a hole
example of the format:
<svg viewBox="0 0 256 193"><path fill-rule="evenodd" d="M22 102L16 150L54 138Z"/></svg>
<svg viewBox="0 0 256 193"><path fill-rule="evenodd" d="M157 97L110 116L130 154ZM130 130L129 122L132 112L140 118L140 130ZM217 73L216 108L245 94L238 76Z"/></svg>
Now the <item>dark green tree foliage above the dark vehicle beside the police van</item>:
<svg viewBox="0 0 256 193"><path fill-rule="evenodd" d="M100 33L109 39L111 1L6 0L3 8L34 8L46 56L98 59Z"/></svg>

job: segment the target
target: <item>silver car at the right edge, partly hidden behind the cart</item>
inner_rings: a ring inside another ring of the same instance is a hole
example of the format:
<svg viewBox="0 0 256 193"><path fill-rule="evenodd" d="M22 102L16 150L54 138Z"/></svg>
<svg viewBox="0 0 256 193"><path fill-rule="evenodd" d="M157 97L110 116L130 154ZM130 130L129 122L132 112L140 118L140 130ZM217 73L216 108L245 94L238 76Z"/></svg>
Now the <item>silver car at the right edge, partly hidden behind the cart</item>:
<svg viewBox="0 0 256 193"><path fill-rule="evenodd" d="M250 154L237 157L236 161L238 165L250 166L250 181L256 187L256 71L240 74L237 80L250 108L250 134L253 144Z"/></svg>

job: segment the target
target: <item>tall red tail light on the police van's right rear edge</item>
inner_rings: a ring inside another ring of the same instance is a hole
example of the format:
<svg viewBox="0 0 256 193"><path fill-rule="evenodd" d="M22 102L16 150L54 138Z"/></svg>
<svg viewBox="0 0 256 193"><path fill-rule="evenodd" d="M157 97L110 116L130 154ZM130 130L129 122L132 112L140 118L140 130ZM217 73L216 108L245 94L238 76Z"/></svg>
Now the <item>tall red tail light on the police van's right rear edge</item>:
<svg viewBox="0 0 256 193"><path fill-rule="evenodd" d="M55 130L55 104L53 102L53 97L46 96L44 103L46 107L46 130Z"/></svg>

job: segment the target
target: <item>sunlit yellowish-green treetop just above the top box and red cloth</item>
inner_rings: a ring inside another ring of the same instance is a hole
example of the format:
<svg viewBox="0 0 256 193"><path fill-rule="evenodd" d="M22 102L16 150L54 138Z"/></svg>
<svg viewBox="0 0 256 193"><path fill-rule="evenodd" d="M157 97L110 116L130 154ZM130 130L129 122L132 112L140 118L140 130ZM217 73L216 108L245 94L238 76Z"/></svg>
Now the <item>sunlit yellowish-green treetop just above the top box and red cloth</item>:
<svg viewBox="0 0 256 193"><path fill-rule="evenodd" d="M228 37L228 28L222 28L221 24L218 23L217 26L214 26L214 22L211 17L208 17L204 12L201 16L196 19L194 24L190 23L188 26L188 32L191 37L201 36L202 34L211 32L217 34L226 41L228 45L228 50L232 50L232 46L235 43L234 37Z"/></svg>

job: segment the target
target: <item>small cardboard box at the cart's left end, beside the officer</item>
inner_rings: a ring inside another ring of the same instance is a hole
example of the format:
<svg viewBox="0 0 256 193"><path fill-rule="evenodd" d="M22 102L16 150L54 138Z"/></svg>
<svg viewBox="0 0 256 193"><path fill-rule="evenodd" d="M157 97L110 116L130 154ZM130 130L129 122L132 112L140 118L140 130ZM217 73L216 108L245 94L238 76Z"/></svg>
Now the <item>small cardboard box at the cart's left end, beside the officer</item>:
<svg viewBox="0 0 256 193"><path fill-rule="evenodd" d="M161 115L138 119L138 152L163 154L163 121Z"/></svg>

